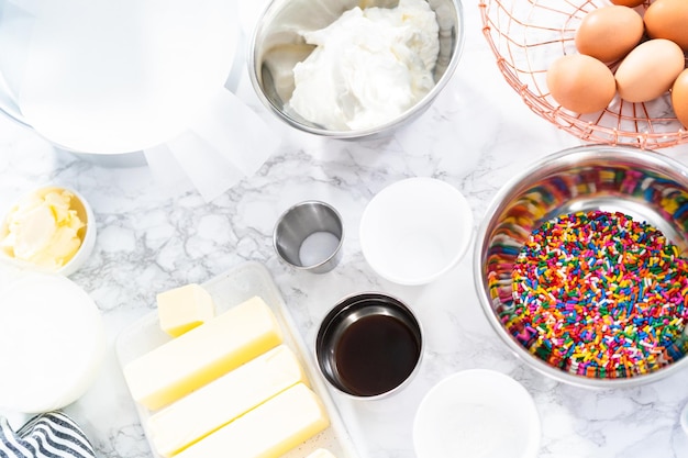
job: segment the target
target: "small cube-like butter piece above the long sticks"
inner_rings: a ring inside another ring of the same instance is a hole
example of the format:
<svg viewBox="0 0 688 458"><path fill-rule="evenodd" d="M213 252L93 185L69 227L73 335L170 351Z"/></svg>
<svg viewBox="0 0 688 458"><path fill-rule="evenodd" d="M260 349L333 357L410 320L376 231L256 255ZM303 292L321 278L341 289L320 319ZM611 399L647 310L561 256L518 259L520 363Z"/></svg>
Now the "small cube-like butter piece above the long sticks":
<svg viewBox="0 0 688 458"><path fill-rule="evenodd" d="M200 284L185 284L162 292L156 299L160 328L173 337L179 337L215 314L212 297Z"/></svg>

